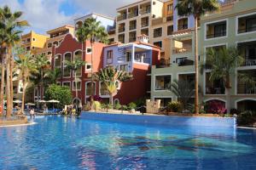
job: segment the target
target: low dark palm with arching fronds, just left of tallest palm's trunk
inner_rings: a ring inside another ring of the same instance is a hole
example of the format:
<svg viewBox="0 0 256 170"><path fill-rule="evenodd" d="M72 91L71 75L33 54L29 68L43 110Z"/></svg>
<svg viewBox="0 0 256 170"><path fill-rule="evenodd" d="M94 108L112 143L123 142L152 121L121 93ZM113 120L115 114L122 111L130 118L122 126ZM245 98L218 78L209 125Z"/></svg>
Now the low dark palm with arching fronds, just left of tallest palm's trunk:
<svg viewBox="0 0 256 170"><path fill-rule="evenodd" d="M171 83L171 91L177 96L177 100L183 105L183 108L187 108L189 99L195 94L194 85L195 82L188 82L184 80L174 80Z"/></svg>

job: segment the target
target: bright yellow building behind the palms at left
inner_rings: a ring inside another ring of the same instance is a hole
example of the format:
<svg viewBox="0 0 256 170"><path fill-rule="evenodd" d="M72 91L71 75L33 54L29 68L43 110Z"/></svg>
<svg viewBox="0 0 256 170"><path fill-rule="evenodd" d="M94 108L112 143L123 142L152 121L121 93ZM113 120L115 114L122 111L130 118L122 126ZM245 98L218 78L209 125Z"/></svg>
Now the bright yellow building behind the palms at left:
<svg viewBox="0 0 256 170"><path fill-rule="evenodd" d="M31 54L37 54L38 50L44 48L44 44L48 38L48 36L31 31L21 36L21 47L26 48Z"/></svg>

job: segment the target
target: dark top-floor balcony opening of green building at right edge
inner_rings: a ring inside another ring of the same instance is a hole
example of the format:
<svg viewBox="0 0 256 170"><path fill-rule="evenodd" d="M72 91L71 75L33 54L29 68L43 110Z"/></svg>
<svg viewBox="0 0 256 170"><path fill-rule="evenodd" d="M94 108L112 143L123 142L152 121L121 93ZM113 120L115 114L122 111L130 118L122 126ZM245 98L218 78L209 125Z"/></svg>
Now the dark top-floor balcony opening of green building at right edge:
<svg viewBox="0 0 256 170"><path fill-rule="evenodd" d="M256 31L256 14L238 19L238 33Z"/></svg>

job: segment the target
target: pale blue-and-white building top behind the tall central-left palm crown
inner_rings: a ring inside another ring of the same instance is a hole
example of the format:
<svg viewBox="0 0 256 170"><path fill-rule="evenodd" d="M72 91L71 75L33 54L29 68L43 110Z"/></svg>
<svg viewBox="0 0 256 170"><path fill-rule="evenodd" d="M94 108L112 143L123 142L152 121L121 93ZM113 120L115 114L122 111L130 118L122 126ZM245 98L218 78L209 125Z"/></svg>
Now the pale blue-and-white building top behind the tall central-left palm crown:
<svg viewBox="0 0 256 170"><path fill-rule="evenodd" d="M74 20L75 31L77 31L79 27L83 25L84 20L88 18L94 18L96 19L96 21L100 21L102 26L105 27L106 31L108 31L109 42L114 41L115 19L104 14L92 13L92 14L87 14L85 16L75 19Z"/></svg>

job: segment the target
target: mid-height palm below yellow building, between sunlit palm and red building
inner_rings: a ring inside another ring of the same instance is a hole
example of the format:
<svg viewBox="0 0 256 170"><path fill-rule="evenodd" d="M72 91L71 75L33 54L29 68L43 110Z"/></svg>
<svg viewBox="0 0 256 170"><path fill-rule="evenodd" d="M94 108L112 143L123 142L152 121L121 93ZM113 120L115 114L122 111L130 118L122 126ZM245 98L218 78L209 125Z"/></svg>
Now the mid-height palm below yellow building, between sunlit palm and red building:
<svg viewBox="0 0 256 170"><path fill-rule="evenodd" d="M44 81L46 80L44 78L46 77L46 74L50 69L50 65L49 65L48 57L45 56L44 54L36 55L34 57L34 60L35 60L35 66L38 72L32 73L31 80L34 86L38 87L38 100L39 100L39 97L40 99L43 99L43 96L44 96L44 94L42 93L44 88ZM40 93L40 96L39 96L39 93Z"/></svg>

